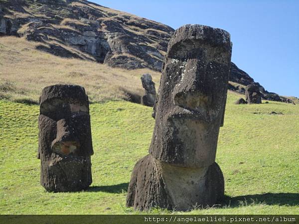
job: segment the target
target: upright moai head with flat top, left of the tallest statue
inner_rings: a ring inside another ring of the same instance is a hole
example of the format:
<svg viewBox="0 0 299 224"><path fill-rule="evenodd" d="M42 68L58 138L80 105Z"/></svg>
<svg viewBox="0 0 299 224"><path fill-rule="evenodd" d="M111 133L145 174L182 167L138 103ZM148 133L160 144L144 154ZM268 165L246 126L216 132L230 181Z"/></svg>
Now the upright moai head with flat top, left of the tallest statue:
<svg viewBox="0 0 299 224"><path fill-rule="evenodd" d="M88 97L81 86L54 85L39 100L40 183L47 191L81 191L92 183Z"/></svg>

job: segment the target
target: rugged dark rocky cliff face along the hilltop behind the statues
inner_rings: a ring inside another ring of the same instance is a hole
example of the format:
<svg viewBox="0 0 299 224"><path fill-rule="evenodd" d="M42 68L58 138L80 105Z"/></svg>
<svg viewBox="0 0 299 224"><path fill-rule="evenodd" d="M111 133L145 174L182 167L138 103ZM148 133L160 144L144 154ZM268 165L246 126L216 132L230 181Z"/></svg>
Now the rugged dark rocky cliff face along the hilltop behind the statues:
<svg viewBox="0 0 299 224"><path fill-rule="evenodd" d="M126 69L160 71L173 29L167 25L86 0L0 0L0 35L40 44L37 49ZM234 63L229 89L260 86L264 99L285 101Z"/></svg>

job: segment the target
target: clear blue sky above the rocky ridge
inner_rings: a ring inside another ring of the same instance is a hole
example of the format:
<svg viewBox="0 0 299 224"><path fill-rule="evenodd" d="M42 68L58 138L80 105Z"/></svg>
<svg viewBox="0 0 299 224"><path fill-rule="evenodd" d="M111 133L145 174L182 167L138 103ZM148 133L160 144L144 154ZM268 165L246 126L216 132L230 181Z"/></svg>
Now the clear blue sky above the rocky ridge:
<svg viewBox="0 0 299 224"><path fill-rule="evenodd" d="M299 0L92 0L176 29L230 32L232 61L266 90L299 97Z"/></svg>

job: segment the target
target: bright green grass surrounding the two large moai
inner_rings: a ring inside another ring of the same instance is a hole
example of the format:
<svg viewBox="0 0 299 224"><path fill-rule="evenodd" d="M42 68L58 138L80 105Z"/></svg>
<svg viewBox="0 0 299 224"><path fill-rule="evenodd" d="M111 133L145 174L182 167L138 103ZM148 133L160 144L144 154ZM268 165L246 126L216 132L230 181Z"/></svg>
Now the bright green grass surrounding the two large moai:
<svg viewBox="0 0 299 224"><path fill-rule="evenodd" d="M239 97L229 93L218 140L222 206L149 213L299 214L299 106L234 105ZM36 105L0 101L0 214L137 214L125 206L126 191L136 161L148 153L151 108L125 101L90 105L93 183L78 193L40 186L38 114Z"/></svg>

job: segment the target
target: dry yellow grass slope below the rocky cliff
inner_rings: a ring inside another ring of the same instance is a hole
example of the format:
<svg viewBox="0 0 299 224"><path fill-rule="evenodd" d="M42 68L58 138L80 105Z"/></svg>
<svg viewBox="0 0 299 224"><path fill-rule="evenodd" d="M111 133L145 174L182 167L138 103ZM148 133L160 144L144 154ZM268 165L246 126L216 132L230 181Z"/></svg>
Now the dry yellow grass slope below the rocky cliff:
<svg viewBox="0 0 299 224"><path fill-rule="evenodd" d="M0 99L38 102L46 86L77 84L85 87L91 102L128 100L128 92L143 94L140 77L144 73L150 73L158 87L158 72L61 58L36 50L37 44L12 36L0 37Z"/></svg>

